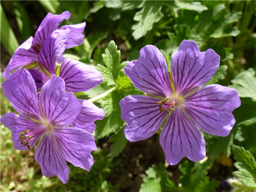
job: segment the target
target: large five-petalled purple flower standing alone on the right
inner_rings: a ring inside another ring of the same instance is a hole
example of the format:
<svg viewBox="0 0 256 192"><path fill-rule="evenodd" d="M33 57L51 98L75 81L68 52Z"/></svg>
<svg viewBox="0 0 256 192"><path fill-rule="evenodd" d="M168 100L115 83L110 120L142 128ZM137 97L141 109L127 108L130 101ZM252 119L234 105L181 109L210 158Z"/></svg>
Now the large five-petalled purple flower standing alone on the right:
<svg viewBox="0 0 256 192"><path fill-rule="evenodd" d="M232 111L240 106L236 90L213 84L203 86L218 69L220 56L200 52L196 42L184 40L172 56L171 78L163 54L152 45L140 50L140 58L128 62L125 74L149 96L130 95L120 101L124 133L135 142L152 136L160 126L160 144L168 164L187 156L202 160L202 131L228 136L234 126Z"/></svg>

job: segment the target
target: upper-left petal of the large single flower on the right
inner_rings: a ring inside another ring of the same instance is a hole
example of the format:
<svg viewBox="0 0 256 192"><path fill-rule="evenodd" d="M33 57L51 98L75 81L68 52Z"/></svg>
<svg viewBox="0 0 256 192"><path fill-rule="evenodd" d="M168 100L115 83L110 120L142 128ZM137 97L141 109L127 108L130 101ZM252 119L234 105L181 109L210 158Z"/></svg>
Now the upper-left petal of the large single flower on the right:
<svg viewBox="0 0 256 192"><path fill-rule="evenodd" d="M162 97L172 94L166 60L153 45L142 48L140 58L128 62L124 72L142 92Z"/></svg>

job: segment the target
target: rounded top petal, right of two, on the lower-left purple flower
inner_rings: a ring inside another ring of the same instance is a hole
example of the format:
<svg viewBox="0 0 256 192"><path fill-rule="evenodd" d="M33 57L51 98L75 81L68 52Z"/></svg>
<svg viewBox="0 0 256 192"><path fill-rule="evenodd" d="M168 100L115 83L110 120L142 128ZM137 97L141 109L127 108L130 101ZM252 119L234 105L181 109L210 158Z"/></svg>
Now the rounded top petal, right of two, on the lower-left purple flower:
<svg viewBox="0 0 256 192"><path fill-rule="evenodd" d="M39 95L41 109L52 126L68 126L80 112L81 105L72 92L65 91L62 78L53 76Z"/></svg>

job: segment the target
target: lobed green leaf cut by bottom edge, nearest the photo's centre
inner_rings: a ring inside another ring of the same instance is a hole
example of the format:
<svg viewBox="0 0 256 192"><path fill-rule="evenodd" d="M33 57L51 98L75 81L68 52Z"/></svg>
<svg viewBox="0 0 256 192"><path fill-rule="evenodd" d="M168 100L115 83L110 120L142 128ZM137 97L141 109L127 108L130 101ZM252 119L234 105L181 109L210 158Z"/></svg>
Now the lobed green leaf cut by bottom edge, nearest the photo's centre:
<svg viewBox="0 0 256 192"><path fill-rule="evenodd" d="M140 186L140 192L178 191L179 187L169 180L164 164L160 163L159 167L152 165L146 170L146 174L147 177L143 178L144 183Z"/></svg>

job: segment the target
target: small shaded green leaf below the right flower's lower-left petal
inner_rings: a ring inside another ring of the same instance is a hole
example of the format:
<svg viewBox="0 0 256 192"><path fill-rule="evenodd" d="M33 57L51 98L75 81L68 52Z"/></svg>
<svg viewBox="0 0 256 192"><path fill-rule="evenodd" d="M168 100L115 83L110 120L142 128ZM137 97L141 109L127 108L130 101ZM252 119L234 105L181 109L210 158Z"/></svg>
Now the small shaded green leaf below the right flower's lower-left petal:
<svg viewBox="0 0 256 192"><path fill-rule="evenodd" d="M120 129L117 134L112 134L109 139L111 144L111 157L118 156L125 148L128 140L124 136L124 128Z"/></svg>

